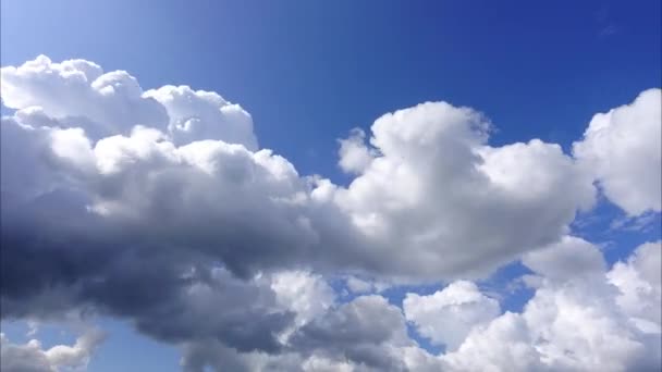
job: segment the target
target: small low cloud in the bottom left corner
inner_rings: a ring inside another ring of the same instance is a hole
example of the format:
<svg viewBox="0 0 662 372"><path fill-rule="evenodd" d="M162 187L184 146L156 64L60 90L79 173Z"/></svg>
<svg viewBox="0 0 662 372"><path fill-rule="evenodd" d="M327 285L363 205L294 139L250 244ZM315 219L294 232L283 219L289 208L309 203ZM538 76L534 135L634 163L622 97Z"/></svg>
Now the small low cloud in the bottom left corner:
<svg viewBox="0 0 662 372"><path fill-rule="evenodd" d="M95 350L103 342L99 330L87 331L73 346L56 345L47 350L38 339L12 344L0 334L0 364L7 372L58 372L64 368L86 368Z"/></svg>

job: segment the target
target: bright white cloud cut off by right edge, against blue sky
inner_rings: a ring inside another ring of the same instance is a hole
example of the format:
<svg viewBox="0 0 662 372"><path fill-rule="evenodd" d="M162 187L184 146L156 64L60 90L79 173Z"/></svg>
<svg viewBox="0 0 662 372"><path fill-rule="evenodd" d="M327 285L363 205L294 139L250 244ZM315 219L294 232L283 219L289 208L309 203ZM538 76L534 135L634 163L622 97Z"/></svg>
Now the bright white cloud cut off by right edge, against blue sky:
<svg viewBox="0 0 662 372"><path fill-rule="evenodd" d="M599 113L575 157L606 197L629 215L662 210L662 90L641 92L627 106Z"/></svg>

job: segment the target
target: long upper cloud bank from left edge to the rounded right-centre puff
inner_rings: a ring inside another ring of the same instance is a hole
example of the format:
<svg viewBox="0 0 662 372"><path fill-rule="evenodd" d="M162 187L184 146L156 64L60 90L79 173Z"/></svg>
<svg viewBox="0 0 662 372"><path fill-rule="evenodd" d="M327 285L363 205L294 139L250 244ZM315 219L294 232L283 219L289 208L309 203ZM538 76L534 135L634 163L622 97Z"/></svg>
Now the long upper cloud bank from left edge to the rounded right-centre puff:
<svg viewBox="0 0 662 372"><path fill-rule="evenodd" d="M556 240L593 199L592 179L557 145L490 147L487 120L445 102L378 119L370 148L361 132L341 141L341 164L358 173L344 188L257 150L250 116L214 92L143 92L125 72L44 57L2 78L17 110L3 141L21 144L3 147L12 199L65 191L53 213L98 224L88 231L132 226L132 241L177 241L243 275L302 265L378 280L485 276Z"/></svg>

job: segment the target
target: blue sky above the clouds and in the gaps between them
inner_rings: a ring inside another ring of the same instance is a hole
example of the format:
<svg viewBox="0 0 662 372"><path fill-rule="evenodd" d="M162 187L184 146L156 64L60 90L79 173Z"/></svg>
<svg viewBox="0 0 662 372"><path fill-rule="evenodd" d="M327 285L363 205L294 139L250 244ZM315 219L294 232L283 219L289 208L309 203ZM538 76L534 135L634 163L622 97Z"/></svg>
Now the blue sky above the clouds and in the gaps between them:
<svg viewBox="0 0 662 372"><path fill-rule="evenodd" d="M425 101L480 110L495 125L493 146L540 138L569 152L593 114L660 87L661 12L660 1L645 0L3 0L0 57L2 66L38 54L81 58L125 70L144 89L218 91L252 114L260 147L299 174L343 185L351 178L338 166L336 139ZM623 216L602 197L574 232L603 244L610 263L659 239L659 213L643 231L610 228ZM485 286L526 271L513 263ZM399 302L405 292L385 295ZM530 295L508 295L502 306L520 311ZM90 371L179 370L174 347L122 321L102 323L110 338ZM3 332L26 339L22 323L5 322ZM45 345L61 337L40 331Z"/></svg>

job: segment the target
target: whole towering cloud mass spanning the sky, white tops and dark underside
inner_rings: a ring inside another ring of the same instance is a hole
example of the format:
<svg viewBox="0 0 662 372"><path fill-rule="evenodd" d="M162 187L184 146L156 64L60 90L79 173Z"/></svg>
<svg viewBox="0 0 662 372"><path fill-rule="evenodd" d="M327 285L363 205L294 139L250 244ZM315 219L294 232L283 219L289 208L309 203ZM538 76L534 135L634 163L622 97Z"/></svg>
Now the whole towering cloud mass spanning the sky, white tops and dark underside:
<svg viewBox="0 0 662 372"><path fill-rule="evenodd" d="M538 139L490 146L490 122L469 108L389 113L369 139L356 129L340 141L354 174L343 187L260 149L250 115L214 92L144 91L126 72L46 57L1 74L14 110L0 137L3 319L122 317L182 345L191 371L659 363L643 356L660 308L634 305L642 290L660 297L647 263L659 245L605 276L599 251L564 236L591 208L596 181L629 214L660 210L660 90L596 116L575 158ZM605 150L606 137L632 140ZM339 303L324 280L485 277L523 255L537 292L522 314L501 314L467 281L409 294L403 314L378 295ZM446 354L419 348L407 321ZM586 332L567 336L577 327ZM617 350L594 345L605 330ZM20 347L3 340L3 356Z"/></svg>

